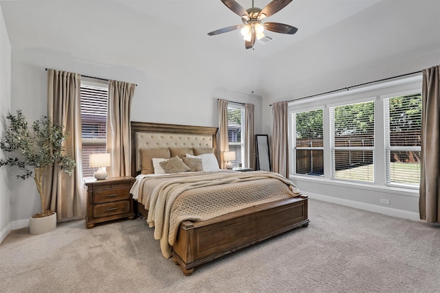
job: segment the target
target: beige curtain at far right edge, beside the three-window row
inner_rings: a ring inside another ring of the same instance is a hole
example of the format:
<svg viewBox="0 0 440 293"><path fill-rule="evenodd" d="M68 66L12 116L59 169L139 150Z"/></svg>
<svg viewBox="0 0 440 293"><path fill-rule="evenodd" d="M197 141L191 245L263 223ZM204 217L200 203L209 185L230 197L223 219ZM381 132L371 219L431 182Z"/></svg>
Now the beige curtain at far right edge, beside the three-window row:
<svg viewBox="0 0 440 293"><path fill-rule="evenodd" d="M440 66L424 69L422 73L419 213L422 220L439 223Z"/></svg>

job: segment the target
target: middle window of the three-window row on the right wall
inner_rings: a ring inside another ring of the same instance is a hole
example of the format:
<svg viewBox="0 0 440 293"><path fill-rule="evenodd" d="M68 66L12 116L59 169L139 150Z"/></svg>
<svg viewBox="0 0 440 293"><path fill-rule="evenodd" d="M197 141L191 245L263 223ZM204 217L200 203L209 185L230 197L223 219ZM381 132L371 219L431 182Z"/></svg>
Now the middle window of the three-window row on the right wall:
<svg viewBox="0 0 440 293"><path fill-rule="evenodd" d="M335 179L374 181L374 102L330 108Z"/></svg>

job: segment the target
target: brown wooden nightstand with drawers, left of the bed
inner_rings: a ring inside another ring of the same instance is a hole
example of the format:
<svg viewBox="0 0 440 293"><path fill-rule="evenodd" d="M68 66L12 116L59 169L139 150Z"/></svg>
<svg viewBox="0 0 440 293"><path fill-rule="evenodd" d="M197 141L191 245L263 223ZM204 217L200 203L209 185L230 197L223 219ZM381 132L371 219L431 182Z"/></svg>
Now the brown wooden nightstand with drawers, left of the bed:
<svg viewBox="0 0 440 293"><path fill-rule="evenodd" d="M87 213L85 224L93 228L96 223L128 218L133 220L133 200L130 196L135 178L113 177L104 180L85 179L87 186Z"/></svg>

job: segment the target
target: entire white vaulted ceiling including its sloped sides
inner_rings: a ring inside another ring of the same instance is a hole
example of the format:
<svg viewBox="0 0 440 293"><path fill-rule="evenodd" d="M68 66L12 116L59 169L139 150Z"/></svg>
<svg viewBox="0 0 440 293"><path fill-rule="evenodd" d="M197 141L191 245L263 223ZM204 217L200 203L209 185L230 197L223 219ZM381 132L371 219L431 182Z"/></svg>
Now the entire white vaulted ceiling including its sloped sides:
<svg viewBox="0 0 440 293"><path fill-rule="evenodd" d="M252 0L237 2L252 6ZM254 51L245 49L239 30L208 36L241 23L220 0L0 3L12 49L240 93L255 89L263 97L308 95L407 73L435 65L432 56L440 62L439 0L294 0L267 21L298 32L268 32L274 40L256 43ZM268 3L255 0L254 6Z"/></svg>

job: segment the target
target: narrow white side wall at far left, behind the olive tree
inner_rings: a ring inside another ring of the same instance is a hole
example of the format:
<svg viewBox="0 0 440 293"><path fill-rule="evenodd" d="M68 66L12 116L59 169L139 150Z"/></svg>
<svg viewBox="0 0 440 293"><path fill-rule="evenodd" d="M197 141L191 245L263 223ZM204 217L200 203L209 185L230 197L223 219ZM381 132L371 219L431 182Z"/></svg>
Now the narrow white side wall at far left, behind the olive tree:
<svg viewBox="0 0 440 293"><path fill-rule="evenodd" d="M0 137L6 128L5 116L11 108L11 44L0 7ZM0 150L0 159L5 159ZM5 167L0 168L0 242L11 230L10 176Z"/></svg>

